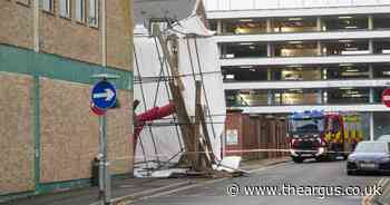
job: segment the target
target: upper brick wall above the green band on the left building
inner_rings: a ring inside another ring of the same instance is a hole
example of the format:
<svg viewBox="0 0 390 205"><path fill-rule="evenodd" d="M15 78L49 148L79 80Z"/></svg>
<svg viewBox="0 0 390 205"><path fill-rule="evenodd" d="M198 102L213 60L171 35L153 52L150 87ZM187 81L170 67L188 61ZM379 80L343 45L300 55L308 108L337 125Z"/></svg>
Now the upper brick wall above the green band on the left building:
<svg viewBox="0 0 390 205"><path fill-rule="evenodd" d="M76 21L76 0L70 0L70 18L59 17L59 0L55 0L53 12L40 10L40 51L55 53L85 62L101 64L101 20L99 3L99 27L87 22L89 3L86 0L86 22ZM29 2L27 4L20 2ZM133 70L130 45L133 22L125 18L123 0L106 0L107 66ZM0 43L33 49L33 4L35 0L0 1ZM126 35L127 33L127 35Z"/></svg>

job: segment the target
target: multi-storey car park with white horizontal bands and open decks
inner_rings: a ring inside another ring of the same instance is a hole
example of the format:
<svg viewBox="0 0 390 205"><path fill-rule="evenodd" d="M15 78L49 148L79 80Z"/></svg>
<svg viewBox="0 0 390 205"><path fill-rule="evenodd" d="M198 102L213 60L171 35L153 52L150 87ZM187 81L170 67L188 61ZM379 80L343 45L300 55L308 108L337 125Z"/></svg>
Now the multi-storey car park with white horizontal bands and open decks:
<svg viewBox="0 0 390 205"><path fill-rule="evenodd" d="M357 111L390 134L390 1L205 1L226 104L246 114Z"/></svg>

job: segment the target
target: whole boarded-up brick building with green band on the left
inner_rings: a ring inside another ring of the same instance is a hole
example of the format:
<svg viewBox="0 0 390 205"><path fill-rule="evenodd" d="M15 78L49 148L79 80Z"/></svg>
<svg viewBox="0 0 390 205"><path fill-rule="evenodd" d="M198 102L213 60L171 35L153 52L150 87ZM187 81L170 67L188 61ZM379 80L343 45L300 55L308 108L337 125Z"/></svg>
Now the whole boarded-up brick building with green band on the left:
<svg viewBox="0 0 390 205"><path fill-rule="evenodd" d="M0 1L0 201L89 184L99 149L91 76L113 74L113 174L133 172L130 6L120 0ZM118 158L126 158L120 159Z"/></svg>

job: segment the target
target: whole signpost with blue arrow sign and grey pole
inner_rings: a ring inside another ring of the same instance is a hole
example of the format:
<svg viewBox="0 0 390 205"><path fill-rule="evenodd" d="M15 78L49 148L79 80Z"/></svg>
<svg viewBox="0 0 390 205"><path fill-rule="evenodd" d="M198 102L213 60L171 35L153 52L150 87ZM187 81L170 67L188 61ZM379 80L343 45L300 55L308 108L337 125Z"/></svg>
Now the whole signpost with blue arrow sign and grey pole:
<svg viewBox="0 0 390 205"><path fill-rule="evenodd" d="M98 75L92 76L98 81L91 90L91 110L99 116L99 196L103 196L105 205L110 205L111 202L111 186L110 175L108 173L107 159L107 119L106 113L109 108L115 106L117 91L113 84L107 79L116 79L117 76Z"/></svg>

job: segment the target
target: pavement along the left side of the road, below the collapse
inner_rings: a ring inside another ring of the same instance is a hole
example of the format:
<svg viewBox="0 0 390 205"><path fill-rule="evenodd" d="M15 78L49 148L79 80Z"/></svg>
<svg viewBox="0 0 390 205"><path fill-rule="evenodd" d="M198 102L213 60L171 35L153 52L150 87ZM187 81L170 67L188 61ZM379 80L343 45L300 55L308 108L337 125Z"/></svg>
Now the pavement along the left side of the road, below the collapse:
<svg viewBox="0 0 390 205"><path fill-rule="evenodd" d="M290 160L289 157L243 162L241 168L256 170ZM113 203L128 204L149 197L169 194L172 191L191 189L213 184L226 178L134 178L123 176L114 178L111 184ZM3 203L4 205L98 205L98 187L85 187L67 192L30 196Z"/></svg>

